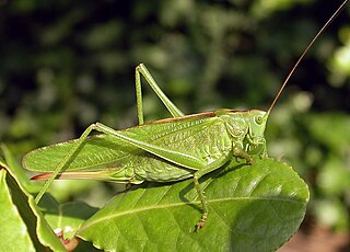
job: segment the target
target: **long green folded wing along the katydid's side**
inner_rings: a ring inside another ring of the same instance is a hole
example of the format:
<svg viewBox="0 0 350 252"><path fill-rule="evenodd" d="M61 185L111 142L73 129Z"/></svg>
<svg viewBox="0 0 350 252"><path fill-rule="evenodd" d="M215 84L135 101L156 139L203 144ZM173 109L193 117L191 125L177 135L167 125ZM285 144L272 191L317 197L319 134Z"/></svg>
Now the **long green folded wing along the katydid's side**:
<svg viewBox="0 0 350 252"><path fill-rule="evenodd" d="M229 156L232 148L223 122L212 113L158 121L118 133L162 148L191 154L206 163ZM23 165L32 171L52 172L75 141L36 149L24 157ZM180 169L179 165L120 141L112 135L97 135L85 140L65 171L112 172L128 168L132 168L145 180L159 180L154 172L159 170L160 174L164 174L165 168L167 176L164 180L166 181L171 176L176 176L172 175L172 169ZM189 173L188 169L185 173Z"/></svg>

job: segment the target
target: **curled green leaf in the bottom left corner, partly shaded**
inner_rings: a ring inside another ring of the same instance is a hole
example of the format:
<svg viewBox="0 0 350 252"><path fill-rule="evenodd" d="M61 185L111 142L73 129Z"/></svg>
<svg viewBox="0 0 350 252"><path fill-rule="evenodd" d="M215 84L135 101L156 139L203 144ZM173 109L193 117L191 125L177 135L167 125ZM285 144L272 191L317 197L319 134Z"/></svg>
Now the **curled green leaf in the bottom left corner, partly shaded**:
<svg viewBox="0 0 350 252"><path fill-rule="evenodd" d="M5 154L5 159L7 163L11 164L11 160L13 160L13 157L10 152L8 152ZM4 167L7 170L1 170L2 176L0 184L0 244L9 244L11 248L15 248L15 251L46 251L47 248L54 251L65 251L65 248L60 243L59 239L55 236L55 233L44 219L44 216L35 204L33 196L26 192L23 184L20 183L21 180L16 177L16 174L12 173L14 169L9 169L8 164L5 164ZM2 197L2 195L4 195L4 197ZM16 217L14 215L16 215ZM18 219L16 224L7 226L7 221L13 218ZM20 236L15 240L15 236L19 234L19 231ZM22 237L31 239L32 245L27 243L26 238L23 238L21 240Z"/></svg>

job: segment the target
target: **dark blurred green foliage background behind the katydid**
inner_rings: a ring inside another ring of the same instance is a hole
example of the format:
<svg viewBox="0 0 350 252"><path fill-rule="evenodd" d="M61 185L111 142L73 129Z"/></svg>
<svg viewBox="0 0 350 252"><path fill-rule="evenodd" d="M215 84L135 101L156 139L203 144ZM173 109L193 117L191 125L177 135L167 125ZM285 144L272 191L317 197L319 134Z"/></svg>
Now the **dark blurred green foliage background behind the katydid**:
<svg viewBox="0 0 350 252"><path fill-rule="evenodd" d="M139 62L186 114L267 110L340 2L2 0L0 140L20 160L97 121L136 125ZM308 219L335 230L349 229L349 13L350 5L307 54L266 133L269 154L310 185ZM170 117L143 88L145 121ZM90 202L114 193L114 185L92 185ZM71 198L72 190L60 192Z"/></svg>

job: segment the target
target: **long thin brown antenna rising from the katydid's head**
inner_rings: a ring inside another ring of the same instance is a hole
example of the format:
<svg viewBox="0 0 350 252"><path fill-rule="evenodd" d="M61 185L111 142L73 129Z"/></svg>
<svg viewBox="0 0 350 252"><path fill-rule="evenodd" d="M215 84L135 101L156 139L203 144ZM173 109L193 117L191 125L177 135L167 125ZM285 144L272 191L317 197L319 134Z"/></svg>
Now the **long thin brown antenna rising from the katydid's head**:
<svg viewBox="0 0 350 252"><path fill-rule="evenodd" d="M310 50L310 48L314 45L314 43L316 42L316 39L319 37L319 35L326 30L326 27L332 22L332 20L339 14L339 12L342 10L342 8L345 7L345 4L348 2L348 0L343 1L341 3L341 5L337 9L337 11L329 18L329 20L327 21L327 23L325 23L325 25L318 31L318 33L315 35L315 37L313 38L313 41L307 45L307 47L305 48L304 53L300 56L300 58L298 59L298 61L295 62L294 67L292 68L292 70L290 71L290 73L288 75L288 77L285 78L280 91L278 91L273 102L271 103L271 106L269 107L269 110L267 111L267 115L270 114L272 107L275 106L275 103L277 102L277 100L280 98L285 84L288 83L289 79L292 77L293 72L295 71L295 69L298 68L299 64L302 61L302 59L304 58L304 56L306 55L306 53Z"/></svg>

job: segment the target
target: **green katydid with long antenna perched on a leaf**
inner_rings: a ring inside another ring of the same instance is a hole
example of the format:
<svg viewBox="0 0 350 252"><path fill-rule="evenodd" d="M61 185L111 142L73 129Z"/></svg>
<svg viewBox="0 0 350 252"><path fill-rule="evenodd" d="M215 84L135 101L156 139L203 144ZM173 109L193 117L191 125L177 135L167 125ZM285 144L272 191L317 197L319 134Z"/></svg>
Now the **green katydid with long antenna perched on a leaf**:
<svg viewBox="0 0 350 252"><path fill-rule="evenodd" d="M209 206L199 185L199 177L222 168L232 158L242 158L250 164L252 154L267 157L264 133L272 107L307 50L347 1L306 47L267 112L217 110L184 115L159 88L145 66L139 65L136 68L138 126L115 130L95 123L79 139L43 147L24 157L23 165L26 169L46 172L33 177L47 180L36 202L39 202L55 179L93 179L139 184L143 181L176 182L192 177L202 205L197 228L202 228ZM141 76L174 118L144 123ZM90 137L92 130L102 134Z"/></svg>

